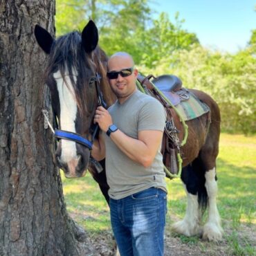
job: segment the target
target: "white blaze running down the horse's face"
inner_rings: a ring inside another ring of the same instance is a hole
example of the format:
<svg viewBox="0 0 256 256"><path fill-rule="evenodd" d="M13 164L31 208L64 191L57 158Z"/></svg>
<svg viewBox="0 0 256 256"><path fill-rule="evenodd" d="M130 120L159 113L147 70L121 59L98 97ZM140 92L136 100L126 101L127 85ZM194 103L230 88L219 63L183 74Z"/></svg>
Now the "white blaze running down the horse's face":
<svg viewBox="0 0 256 256"><path fill-rule="evenodd" d="M68 86L66 86L60 71L54 73L53 77L55 77L60 98L60 127L64 131L75 132L77 104L75 102L75 92L71 79L66 75L65 80L68 84ZM62 154L60 160L64 163L68 163L72 159L77 160L75 143L70 140L62 140Z"/></svg>

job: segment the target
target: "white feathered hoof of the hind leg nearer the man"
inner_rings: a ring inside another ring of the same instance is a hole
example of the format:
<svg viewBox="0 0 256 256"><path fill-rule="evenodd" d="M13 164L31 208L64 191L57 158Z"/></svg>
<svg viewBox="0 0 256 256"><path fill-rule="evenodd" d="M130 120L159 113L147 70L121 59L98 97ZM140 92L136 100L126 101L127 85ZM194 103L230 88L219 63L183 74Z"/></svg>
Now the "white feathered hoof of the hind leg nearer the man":
<svg viewBox="0 0 256 256"><path fill-rule="evenodd" d="M174 232L185 235L187 237L191 237L192 235L201 235L203 232L201 226L194 223L188 223L184 220L172 224L171 228Z"/></svg>

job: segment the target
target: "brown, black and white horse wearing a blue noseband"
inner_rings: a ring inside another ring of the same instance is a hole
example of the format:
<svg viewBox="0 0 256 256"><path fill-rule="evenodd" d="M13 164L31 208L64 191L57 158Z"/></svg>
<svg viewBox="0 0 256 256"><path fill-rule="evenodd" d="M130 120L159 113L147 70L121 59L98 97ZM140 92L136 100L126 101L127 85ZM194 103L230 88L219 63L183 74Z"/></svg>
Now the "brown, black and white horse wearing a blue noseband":
<svg viewBox="0 0 256 256"><path fill-rule="evenodd" d="M104 102L109 107L116 100L106 76L108 58L98 46L98 28L90 20L82 33L73 31L53 39L47 30L36 25L35 38L49 55L46 84L51 91L53 116L60 127L55 132L57 165L67 178L84 176L89 170L109 203L104 161L100 162L102 170L90 161L93 138L97 134L93 124L95 109ZM185 217L174 223L172 229L186 236L200 235L208 241L219 241L223 235L216 202L220 111L209 95L196 90L193 93L208 105L210 113L186 121L188 139L181 147L181 181L188 204ZM175 125L183 129L179 120ZM205 208L208 208L208 219L202 226Z"/></svg>

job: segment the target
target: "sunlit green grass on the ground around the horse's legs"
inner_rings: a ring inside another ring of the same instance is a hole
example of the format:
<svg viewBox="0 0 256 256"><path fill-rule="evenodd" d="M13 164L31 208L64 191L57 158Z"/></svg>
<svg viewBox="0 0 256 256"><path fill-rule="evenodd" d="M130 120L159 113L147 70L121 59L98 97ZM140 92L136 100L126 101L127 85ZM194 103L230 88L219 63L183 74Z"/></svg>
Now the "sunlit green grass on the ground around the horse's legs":
<svg viewBox="0 0 256 256"><path fill-rule="evenodd" d="M186 207L179 179L167 181L167 233L200 255L256 255L256 136L221 134L217 175L217 203L225 231L221 253L214 253L214 246L218 245L198 237L172 234L170 224L183 218ZM109 208L91 176L73 180L62 178L62 181L68 212L91 239L104 232L110 233ZM212 248L210 253L209 248Z"/></svg>

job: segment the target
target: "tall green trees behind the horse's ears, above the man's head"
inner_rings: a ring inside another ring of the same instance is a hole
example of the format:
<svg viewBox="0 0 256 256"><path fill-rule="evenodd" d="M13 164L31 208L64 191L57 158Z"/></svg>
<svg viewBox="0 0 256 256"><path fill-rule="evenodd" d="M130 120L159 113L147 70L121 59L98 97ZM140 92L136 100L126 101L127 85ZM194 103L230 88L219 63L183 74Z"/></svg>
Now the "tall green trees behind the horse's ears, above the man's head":
<svg viewBox="0 0 256 256"><path fill-rule="evenodd" d="M127 51L136 63L140 61L140 31L152 22L147 0L58 0L56 9L57 35L82 30L91 17L100 33L100 46L108 55Z"/></svg>

